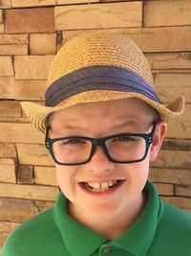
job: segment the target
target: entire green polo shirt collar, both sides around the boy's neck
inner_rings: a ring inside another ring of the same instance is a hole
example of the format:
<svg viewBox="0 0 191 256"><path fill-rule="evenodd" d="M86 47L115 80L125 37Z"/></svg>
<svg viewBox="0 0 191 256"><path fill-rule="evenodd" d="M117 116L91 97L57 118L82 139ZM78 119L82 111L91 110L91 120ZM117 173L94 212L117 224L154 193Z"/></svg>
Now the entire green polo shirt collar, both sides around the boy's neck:
<svg viewBox="0 0 191 256"><path fill-rule="evenodd" d="M144 190L148 194L146 206L132 226L123 232L112 244L131 252L133 255L145 255L152 244L158 223L160 221L163 204L152 182L147 181ZM96 249L108 241L67 213L67 199L60 192L53 209L53 220L61 232L62 239L68 251L77 256L91 255Z"/></svg>

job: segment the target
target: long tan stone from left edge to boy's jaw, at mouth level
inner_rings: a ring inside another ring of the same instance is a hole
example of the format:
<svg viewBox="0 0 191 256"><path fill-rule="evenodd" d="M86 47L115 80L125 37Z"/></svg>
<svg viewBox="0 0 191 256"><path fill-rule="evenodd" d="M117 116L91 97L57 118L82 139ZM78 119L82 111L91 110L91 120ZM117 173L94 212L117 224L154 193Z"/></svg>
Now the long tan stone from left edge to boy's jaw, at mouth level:
<svg viewBox="0 0 191 256"><path fill-rule="evenodd" d="M58 188L40 185L18 185L0 183L0 197L22 198L54 201L58 194Z"/></svg>

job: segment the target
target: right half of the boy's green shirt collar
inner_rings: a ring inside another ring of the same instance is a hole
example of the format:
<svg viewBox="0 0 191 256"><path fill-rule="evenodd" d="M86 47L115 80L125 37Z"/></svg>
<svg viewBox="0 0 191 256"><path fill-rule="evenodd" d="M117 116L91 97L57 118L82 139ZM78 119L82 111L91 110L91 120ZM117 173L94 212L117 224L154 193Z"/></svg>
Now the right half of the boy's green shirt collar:
<svg viewBox="0 0 191 256"><path fill-rule="evenodd" d="M152 244L163 213L163 202L154 184L147 181L144 190L148 194L148 200L143 212L128 230L113 241L113 244L136 256L145 255Z"/></svg>

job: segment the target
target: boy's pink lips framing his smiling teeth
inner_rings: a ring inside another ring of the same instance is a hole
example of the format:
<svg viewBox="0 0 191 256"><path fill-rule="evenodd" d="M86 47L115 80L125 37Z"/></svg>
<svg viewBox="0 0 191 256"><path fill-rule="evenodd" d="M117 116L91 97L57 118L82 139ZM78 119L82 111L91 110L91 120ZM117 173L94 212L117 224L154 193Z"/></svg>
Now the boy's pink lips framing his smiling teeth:
<svg viewBox="0 0 191 256"><path fill-rule="evenodd" d="M115 180L115 179L110 179L110 180ZM108 181L110 181L108 180ZM118 189L121 188L121 186L124 184L125 182L125 179L117 179L117 180L121 180L121 182L119 184L117 184L117 186L109 189L109 190L106 190L106 191L103 191L103 192L96 192L96 191L90 191L88 189L86 189L84 186L83 186L83 182L79 182L78 185L80 187L80 189L85 192L87 195L89 196L92 196L92 197L103 197L103 196L108 196L108 195L111 195L115 192L117 192ZM95 181L95 182L100 182L100 181ZM104 182L104 181L102 181ZM106 181L107 182L107 181Z"/></svg>

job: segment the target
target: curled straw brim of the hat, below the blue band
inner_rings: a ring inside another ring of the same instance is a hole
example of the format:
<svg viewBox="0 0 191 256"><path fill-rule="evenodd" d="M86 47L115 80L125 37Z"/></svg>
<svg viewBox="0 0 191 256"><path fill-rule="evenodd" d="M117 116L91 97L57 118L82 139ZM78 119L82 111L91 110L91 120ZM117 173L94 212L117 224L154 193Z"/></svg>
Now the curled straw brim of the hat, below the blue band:
<svg viewBox="0 0 191 256"><path fill-rule="evenodd" d="M180 115L184 108L184 98L180 97L170 105L161 105L146 96L135 93L135 92L122 92L115 90L90 90L78 93L77 95L71 96L65 99L56 106L44 106L38 105L31 102L22 102L21 105L31 121L34 128L45 133L46 119L52 112L67 108L72 105L82 103L94 103L94 102L105 102L127 98L138 98L148 105L154 107L161 117L162 121L168 122L172 117Z"/></svg>

